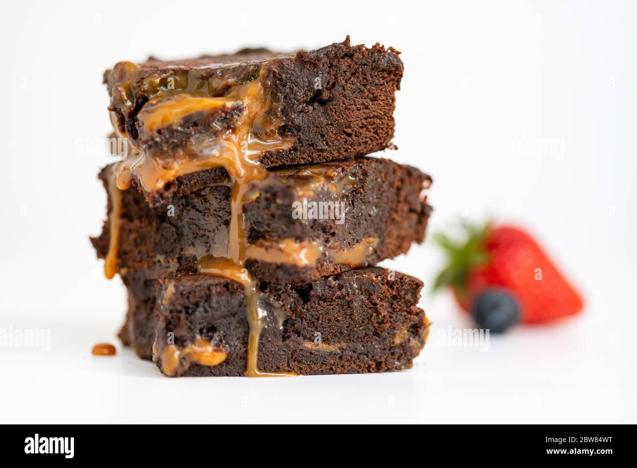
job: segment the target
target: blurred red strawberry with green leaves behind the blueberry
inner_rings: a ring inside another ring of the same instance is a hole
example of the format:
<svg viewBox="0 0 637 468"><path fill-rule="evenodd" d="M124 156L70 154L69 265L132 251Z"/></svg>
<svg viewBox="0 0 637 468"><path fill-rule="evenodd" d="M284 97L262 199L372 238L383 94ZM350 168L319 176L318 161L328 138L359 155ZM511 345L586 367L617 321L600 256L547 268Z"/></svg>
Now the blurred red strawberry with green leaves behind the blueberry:
<svg viewBox="0 0 637 468"><path fill-rule="evenodd" d="M529 234L506 225L464 228L464 243L444 234L435 236L447 253L448 265L434 290L452 287L458 304L467 311L485 290L505 290L517 299L522 323L550 322L582 309L580 295Z"/></svg>

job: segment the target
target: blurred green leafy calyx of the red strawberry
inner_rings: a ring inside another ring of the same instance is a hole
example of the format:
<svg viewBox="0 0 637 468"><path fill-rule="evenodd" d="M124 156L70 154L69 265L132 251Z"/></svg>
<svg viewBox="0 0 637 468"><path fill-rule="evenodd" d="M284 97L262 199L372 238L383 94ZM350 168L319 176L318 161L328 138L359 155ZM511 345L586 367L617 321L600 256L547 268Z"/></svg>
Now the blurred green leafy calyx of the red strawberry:
<svg viewBox="0 0 637 468"><path fill-rule="evenodd" d="M484 246L489 228L490 223L479 226L462 222L464 235L461 239L451 239L442 232L434 234L434 242L445 251L447 267L438 274L432 291L450 286L459 295L466 293L469 272L489 260L489 253Z"/></svg>

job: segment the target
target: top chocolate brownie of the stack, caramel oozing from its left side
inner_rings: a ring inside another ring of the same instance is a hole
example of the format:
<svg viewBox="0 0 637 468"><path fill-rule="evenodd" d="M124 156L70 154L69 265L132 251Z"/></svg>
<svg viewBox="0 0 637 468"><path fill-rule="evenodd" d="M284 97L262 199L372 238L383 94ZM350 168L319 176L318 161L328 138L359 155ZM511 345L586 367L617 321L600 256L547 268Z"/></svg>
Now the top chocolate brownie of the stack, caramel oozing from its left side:
<svg viewBox="0 0 637 468"><path fill-rule="evenodd" d="M348 37L311 52L119 62L104 83L117 131L164 169L240 143L263 167L326 162L390 145L398 54Z"/></svg>

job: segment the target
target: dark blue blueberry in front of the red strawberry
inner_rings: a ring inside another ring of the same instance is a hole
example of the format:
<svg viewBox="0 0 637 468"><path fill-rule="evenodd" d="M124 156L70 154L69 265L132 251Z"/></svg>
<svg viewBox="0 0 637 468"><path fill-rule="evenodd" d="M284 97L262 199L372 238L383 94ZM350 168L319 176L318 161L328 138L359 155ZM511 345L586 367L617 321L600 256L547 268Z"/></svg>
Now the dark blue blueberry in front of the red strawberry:
<svg viewBox="0 0 637 468"><path fill-rule="evenodd" d="M493 333L502 333L520 320L517 301L501 289L489 289L476 297L471 314L481 328Z"/></svg>

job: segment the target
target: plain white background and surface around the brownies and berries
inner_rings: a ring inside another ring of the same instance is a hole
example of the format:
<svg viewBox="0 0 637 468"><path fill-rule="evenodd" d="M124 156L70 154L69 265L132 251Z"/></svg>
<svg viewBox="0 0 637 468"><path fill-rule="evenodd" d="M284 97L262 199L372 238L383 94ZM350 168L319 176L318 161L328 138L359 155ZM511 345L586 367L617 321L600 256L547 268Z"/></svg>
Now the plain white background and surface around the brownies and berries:
<svg viewBox="0 0 637 468"><path fill-rule="evenodd" d="M632 2L11 2L0 18L0 329L50 329L50 351L0 347L1 422L637 422L637 8ZM401 50L399 162L434 177L430 233L462 214L523 225L586 300L582 315L445 345L470 327L429 287L431 243L385 266L422 278L435 322L412 370L291 379L169 379L122 349L120 280L89 235L108 157L102 73L118 60L317 48ZM520 152L553 141L563 152ZM113 358L90 355L110 341Z"/></svg>

